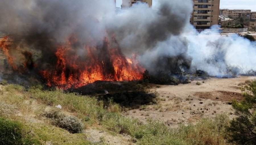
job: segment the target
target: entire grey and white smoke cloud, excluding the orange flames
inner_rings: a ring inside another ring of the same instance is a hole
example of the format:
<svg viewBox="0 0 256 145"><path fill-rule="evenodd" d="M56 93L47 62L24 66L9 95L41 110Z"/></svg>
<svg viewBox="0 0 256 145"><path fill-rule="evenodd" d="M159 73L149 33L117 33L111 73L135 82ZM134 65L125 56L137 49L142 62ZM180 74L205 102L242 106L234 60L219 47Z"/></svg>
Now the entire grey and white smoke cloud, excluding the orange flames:
<svg viewBox="0 0 256 145"><path fill-rule="evenodd" d="M27 61L24 52L32 52L30 61L36 67L28 71L34 74L54 69L57 47L74 35L77 40L69 52L79 61L87 57L85 46L101 53L104 38L115 36L119 51L126 57L136 54L152 74L201 69L221 76L230 69L236 74L255 69L255 43L238 36L187 35L194 31L189 24L191 0L161 0L156 9L139 3L123 9L121 16L112 0L1 0L0 8L0 31L15 40L10 55L20 66Z"/></svg>

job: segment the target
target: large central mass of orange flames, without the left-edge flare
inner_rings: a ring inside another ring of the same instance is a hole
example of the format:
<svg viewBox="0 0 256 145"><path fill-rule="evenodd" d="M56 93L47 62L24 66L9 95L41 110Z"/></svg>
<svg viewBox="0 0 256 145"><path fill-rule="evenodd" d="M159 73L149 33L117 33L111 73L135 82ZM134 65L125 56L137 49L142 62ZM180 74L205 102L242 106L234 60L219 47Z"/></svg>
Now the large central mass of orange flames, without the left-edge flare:
<svg viewBox="0 0 256 145"><path fill-rule="evenodd" d="M74 52L78 43L71 36L65 45L55 52L57 64L52 69L41 71L48 86L64 89L78 88L97 80L131 81L143 78L144 69L134 58L126 58L118 48L115 38L104 39L103 46L85 45L84 54Z"/></svg>

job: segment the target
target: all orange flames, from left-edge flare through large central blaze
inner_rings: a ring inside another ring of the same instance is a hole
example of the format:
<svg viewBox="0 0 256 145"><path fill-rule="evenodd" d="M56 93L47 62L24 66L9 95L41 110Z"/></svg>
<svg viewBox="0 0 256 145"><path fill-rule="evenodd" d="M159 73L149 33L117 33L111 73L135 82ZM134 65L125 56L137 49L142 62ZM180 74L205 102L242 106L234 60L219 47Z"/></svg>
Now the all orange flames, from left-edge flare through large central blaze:
<svg viewBox="0 0 256 145"><path fill-rule="evenodd" d="M79 40L70 36L64 45L57 47L54 53L57 61L44 70L41 68L42 62L34 62L31 52L15 47L8 37L0 39L0 50L7 57L13 71L35 71L48 86L63 89L78 88L98 80L131 81L143 78L144 68L136 61L136 56L127 58L121 52L114 35L102 41L100 46L84 44L77 48Z"/></svg>

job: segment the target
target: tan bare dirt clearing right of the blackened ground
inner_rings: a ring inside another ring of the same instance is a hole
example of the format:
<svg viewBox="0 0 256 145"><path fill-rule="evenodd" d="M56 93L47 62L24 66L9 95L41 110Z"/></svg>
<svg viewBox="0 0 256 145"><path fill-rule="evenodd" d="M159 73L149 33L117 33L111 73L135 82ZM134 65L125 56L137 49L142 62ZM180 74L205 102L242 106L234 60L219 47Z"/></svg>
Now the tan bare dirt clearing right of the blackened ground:
<svg viewBox="0 0 256 145"><path fill-rule="evenodd" d="M220 113L227 113L232 118L232 100L242 100L240 88L246 85L245 81L255 79L255 76L239 76L210 78L178 86L155 85L159 93L156 98L158 104L143 105L140 109L127 111L125 115L141 121L152 117L171 127L177 127L180 123L195 123L202 117L214 118Z"/></svg>

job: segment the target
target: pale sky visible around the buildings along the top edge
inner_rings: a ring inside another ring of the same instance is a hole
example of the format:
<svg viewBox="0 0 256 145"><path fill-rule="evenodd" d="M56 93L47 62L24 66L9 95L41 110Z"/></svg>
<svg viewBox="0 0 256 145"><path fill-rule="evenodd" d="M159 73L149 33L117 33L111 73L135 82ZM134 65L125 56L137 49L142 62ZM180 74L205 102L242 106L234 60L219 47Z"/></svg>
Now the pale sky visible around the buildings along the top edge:
<svg viewBox="0 0 256 145"><path fill-rule="evenodd" d="M153 0L154 3L159 0ZM117 7L120 7L122 0L116 0ZM220 9L250 9L256 12L256 0L220 0Z"/></svg>

